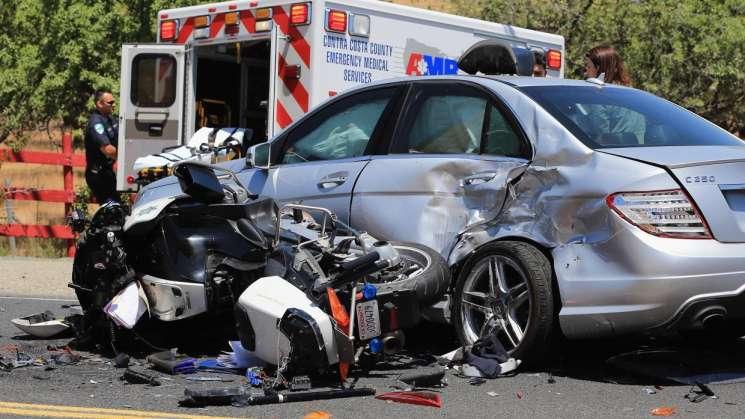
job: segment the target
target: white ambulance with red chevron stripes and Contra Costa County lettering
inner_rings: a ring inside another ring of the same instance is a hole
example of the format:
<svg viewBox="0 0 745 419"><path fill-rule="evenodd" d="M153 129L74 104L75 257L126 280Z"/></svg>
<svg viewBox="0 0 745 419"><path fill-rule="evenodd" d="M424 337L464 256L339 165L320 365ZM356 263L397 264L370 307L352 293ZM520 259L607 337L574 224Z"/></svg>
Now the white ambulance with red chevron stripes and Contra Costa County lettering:
<svg viewBox="0 0 745 419"><path fill-rule="evenodd" d="M457 74L472 45L543 54L564 75L564 38L374 0L228 1L162 10L154 44L122 46L117 189L133 163L202 127L266 141L346 89L391 77Z"/></svg>

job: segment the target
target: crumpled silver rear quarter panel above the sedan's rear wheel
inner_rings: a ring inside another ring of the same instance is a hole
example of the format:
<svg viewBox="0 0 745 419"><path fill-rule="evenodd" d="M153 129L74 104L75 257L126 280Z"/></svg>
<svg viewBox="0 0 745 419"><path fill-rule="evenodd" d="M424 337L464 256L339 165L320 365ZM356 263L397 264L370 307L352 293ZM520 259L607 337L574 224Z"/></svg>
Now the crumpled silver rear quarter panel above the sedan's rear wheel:
<svg viewBox="0 0 745 419"><path fill-rule="evenodd" d="M677 183L663 169L588 150L524 95L499 84L493 88L499 89L513 112L520 115L535 156L510 185L503 210L462 232L449 264L461 263L475 249L494 240L531 241L550 251L554 260L561 299L559 322L568 337L623 332L622 327L614 326L615 317L638 325L648 315L645 311L650 303L634 298L635 274L627 271L633 280L624 285L612 273L639 263L621 256L628 253L629 244L621 243L616 235L628 227L618 223L605 199L612 191L673 189ZM593 176L588 176L590 173ZM613 293L608 293L609 286ZM639 311L639 317L630 317L629 311ZM613 316L614 312L621 315Z"/></svg>

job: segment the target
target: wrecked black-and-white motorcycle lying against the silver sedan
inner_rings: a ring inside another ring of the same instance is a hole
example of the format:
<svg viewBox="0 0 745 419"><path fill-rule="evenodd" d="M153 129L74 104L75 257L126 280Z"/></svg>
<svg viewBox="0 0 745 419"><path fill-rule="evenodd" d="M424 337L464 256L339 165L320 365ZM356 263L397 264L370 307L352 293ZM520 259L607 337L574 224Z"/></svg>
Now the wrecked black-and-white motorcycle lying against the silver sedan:
<svg viewBox="0 0 745 419"><path fill-rule="evenodd" d="M257 199L234 173L220 166L182 163L174 172L181 194L137 201L131 214L112 202L102 205L90 222L73 217L74 228L84 231L70 287L87 324L109 329L100 338L111 339L117 329L103 315L104 308L133 281L146 296L150 317L171 322L231 313L244 291L268 276L278 277L276 283L292 284L310 295L314 304L326 291L324 281L330 281L328 288L333 289L339 276L345 287L365 280L377 287L385 328L392 324L396 329L413 325L419 304L447 289L445 262L427 247L383 245L341 225L329 213L322 223L299 208L292 209L289 218L280 216L273 200ZM379 260L370 261L373 253ZM362 271L349 270L348 264L362 262ZM347 271L352 276L342 274ZM351 301L351 295L345 295L351 292L348 287L340 291L341 298ZM404 297L409 300L402 303ZM284 296L279 298L286 304ZM382 336L381 345L390 351L401 339Z"/></svg>

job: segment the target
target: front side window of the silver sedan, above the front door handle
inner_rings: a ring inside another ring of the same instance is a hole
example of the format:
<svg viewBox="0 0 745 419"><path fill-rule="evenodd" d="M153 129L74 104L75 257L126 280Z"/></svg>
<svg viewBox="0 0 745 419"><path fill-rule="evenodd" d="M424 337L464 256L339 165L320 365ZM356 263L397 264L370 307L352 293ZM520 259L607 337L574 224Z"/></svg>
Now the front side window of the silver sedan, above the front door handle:
<svg viewBox="0 0 745 419"><path fill-rule="evenodd" d="M364 155L395 93L395 88L361 92L322 109L289 134L280 163Z"/></svg>

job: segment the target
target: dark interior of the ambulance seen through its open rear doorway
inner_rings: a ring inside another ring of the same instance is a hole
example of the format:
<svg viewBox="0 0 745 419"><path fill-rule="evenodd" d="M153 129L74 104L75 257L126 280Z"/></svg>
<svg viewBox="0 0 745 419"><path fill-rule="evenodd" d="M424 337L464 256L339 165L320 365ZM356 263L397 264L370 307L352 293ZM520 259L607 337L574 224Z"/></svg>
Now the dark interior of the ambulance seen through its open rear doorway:
<svg viewBox="0 0 745 419"><path fill-rule="evenodd" d="M195 48L196 121L201 127L250 128L244 146L267 140L269 40Z"/></svg>

